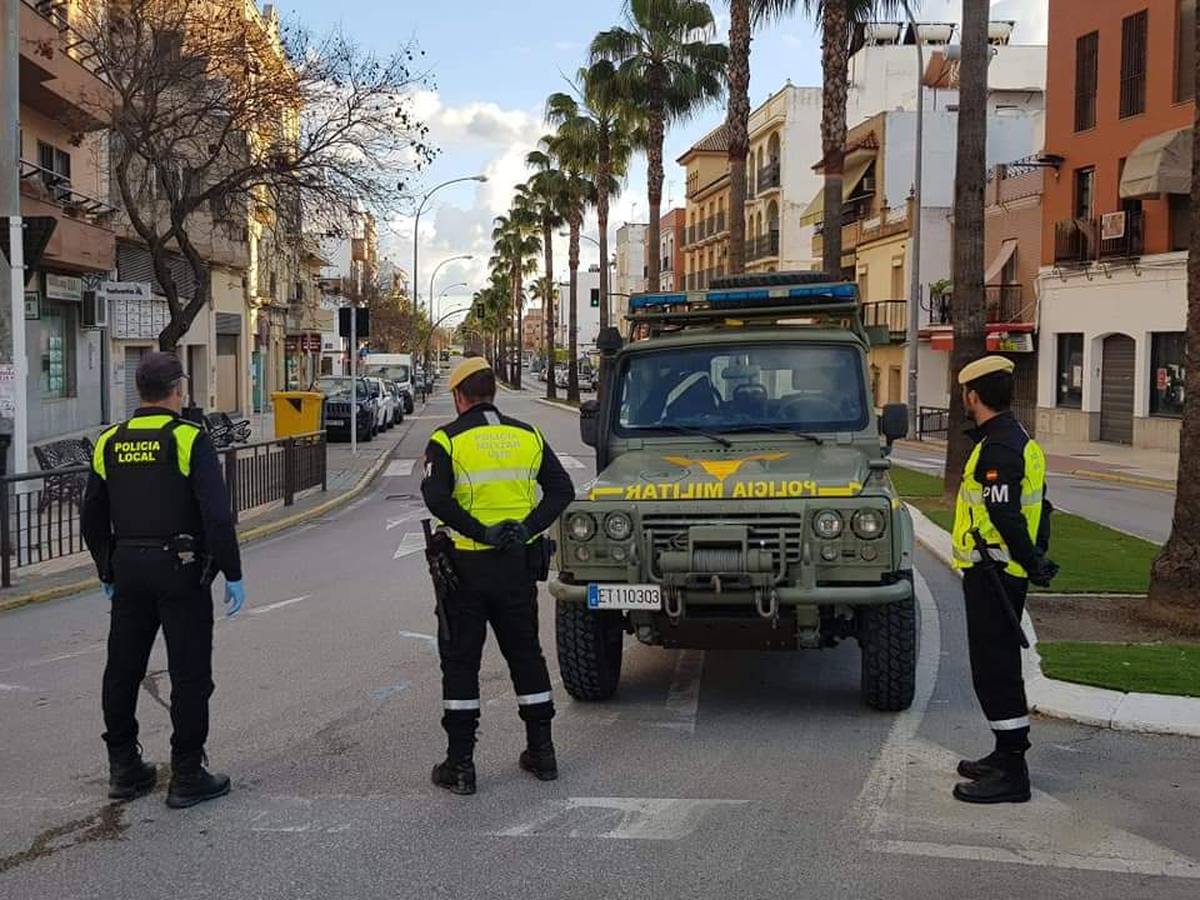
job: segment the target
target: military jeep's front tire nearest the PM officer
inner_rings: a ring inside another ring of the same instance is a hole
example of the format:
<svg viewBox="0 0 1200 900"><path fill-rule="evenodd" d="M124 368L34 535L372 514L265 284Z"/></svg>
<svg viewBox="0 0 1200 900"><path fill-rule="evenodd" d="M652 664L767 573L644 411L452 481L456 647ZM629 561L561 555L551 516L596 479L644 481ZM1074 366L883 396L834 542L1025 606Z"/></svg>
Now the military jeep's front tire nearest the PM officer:
<svg viewBox="0 0 1200 900"><path fill-rule="evenodd" d="M896 713L912 706L917 688L917 607L910 598L858 613L863 654L863 700L872 709Z"/></svg>

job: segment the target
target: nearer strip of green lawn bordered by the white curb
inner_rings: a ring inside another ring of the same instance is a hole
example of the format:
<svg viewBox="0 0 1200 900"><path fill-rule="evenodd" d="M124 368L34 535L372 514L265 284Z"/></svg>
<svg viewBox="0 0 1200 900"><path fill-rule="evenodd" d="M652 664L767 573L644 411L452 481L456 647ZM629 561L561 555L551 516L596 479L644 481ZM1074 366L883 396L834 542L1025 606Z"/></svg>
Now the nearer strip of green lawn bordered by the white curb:
<svg viewBox="0 0 1200 900"><path fill-rule="evenodd" d="M1042 671L1050 678L1118 691L1200 697L1200 644L1039 643Z"/></svg>

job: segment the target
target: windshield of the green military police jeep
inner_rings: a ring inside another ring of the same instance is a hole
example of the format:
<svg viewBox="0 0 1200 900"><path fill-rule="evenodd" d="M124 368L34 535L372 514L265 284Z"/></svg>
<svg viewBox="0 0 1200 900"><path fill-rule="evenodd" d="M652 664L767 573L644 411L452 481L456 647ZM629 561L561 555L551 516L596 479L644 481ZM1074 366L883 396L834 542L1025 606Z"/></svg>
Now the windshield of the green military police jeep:
<svg viewBox="0 0 1200 900"><path fill-rule="evenodd" d="M868 422L854 347L719 344L631 355L622 367L618 433L859 431Z"/></svg>

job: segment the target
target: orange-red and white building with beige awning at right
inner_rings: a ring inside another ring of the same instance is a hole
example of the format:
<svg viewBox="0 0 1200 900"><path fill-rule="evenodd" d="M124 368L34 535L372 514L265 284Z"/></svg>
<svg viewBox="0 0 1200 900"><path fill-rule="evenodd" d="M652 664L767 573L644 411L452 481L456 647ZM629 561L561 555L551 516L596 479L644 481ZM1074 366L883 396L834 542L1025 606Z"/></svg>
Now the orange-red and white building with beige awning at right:
<svg viewBox="0 0 1200 900"><path fill-rule="evenodd" d="M1177 449L1195 0L1055 0L1039 431Z"/></svg>

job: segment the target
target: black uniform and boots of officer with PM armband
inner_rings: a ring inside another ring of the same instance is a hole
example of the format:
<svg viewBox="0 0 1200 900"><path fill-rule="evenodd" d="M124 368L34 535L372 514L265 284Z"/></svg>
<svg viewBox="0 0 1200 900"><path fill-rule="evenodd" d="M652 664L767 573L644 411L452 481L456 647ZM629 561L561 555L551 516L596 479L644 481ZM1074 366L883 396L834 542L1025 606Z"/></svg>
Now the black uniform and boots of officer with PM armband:
<svg viewBox="0 0 1200 900"><path fill-rule="evenodd" d="M980 444L973 478L982 485L983 506L1004 544L1000 560L1015 563L1028 577L1002 569L989 571L982 564L960 564L971 679L995 734L996 749L982 760L965 760L959 764L959 774L974 784L959 785L955 796L980 803L1021 800L1028 798L1025 751L1030 748L1030 715L1021 676L1020 638L1003 605L1008 604L1020 620L1030 580L1049 583L1057 570L1044 557L1049 544L1049 504L1045 502L1044 484L1040 497L1024 498L1025 502L1036 500L1043 505L1037 535L1030 534L1030 521L1022 514L1027 450L1032 450L1040 461L1043 472L1039 480L1043 482L1044 457L1010 412L989 419L974 428L971 437ZM1007 559L1003 558L1006 554ZM997 576L1004 596L996 595Z"/></svg>

